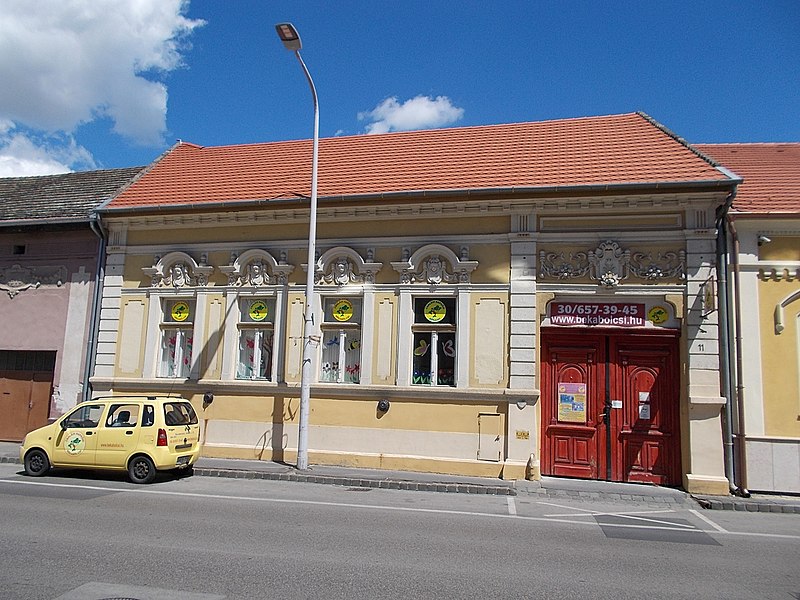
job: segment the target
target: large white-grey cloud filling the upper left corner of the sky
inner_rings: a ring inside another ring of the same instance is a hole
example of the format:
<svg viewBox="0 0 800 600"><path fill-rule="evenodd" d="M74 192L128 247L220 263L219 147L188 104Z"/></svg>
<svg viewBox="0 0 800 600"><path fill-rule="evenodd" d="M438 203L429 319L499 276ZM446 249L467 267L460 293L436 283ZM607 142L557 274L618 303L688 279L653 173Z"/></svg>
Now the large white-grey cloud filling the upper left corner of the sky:
<svg viewBox="0 0 800 600"><path fill-rule="evenodd" d="M158 79L182 65L187 36L204 24L184 16L187 6L184 0L3 0L0 119L66 134L67 151L71 134L100 118L137 143L161 145L167 89ZM10 151L6 140L4 156Z"/></svg>

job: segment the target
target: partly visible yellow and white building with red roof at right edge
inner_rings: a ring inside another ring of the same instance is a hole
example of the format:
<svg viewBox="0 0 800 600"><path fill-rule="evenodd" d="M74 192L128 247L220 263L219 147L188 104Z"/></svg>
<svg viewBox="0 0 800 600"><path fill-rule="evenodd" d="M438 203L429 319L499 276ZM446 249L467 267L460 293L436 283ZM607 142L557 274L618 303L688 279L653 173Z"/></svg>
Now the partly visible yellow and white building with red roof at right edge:
<svg viewBox="0 0 800 600"><path fill-rule="evenodd" d="M728 219L733 475L745 490L798 493L800 144L698 148L744 179Z"/></svg>

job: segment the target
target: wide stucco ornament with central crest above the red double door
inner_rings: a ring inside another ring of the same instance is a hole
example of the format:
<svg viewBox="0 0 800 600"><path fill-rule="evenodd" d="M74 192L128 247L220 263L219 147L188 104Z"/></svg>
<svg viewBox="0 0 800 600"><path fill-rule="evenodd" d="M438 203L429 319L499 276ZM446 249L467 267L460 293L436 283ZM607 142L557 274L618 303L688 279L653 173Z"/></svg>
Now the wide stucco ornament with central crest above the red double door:
<svg viewBox="0 0 800 600"><path fill-rule="evenodd" d="M686 253L634 252L617 242L606 240L587 252L539 252L539 275L542 278L575 279L589 277L605 288L613 289L631 275L655 282L661 279L682 279Z"/></svg>

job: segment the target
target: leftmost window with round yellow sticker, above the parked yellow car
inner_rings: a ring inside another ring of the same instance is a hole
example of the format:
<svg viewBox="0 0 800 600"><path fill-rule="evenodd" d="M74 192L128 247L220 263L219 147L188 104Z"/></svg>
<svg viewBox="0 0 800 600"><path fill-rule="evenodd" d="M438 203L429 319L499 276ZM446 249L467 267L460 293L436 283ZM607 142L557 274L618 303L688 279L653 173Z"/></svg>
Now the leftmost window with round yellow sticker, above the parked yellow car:
<svg viewBox="0 0 800 600"><path fill-rule="evenodd" d="M194 300L164 300L160 377L188 377L192 364Z"/></svg>

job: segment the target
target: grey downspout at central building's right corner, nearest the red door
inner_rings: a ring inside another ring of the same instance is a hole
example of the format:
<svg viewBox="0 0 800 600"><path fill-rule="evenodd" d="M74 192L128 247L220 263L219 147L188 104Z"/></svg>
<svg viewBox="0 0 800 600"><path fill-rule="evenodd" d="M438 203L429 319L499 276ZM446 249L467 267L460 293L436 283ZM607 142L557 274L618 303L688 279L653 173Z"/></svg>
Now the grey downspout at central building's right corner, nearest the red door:
<svg viewBox="0 0 800 600"><path fill-rule="evenodd" d="M725 477L731 493L736 493L733 458L733 410L731 407L731 369L730 369L730 324L729 324L729 299L728 291L728 211L736 197L736 188L728 195L725 204L717 208L717 303L719 304L719 342L720 342L720 380L721 393L725 398L725 412L723 419L723 449L725 458Z"/></svg>

